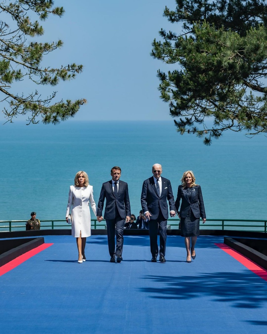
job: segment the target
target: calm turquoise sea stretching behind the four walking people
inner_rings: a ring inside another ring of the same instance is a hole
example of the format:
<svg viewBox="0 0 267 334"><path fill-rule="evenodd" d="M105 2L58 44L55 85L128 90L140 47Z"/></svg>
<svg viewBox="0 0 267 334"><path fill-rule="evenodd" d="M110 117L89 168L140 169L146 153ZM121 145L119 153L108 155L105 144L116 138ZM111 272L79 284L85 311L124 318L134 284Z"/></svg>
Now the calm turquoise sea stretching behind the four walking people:
<svg viewBox="0 0 267 334"><path fill-rule="evenodd" d="M64 219L76 172L88 173L97 203L114 165L122 169L131 212L138 215L154 163L162 164L175 198L183 172L194 171L207 218L266 219L266 148L263 135L233 132L207 147L193 135L179 135L172 121L1 125L0 220L26 220L31 211L40 220Z"/></svg>

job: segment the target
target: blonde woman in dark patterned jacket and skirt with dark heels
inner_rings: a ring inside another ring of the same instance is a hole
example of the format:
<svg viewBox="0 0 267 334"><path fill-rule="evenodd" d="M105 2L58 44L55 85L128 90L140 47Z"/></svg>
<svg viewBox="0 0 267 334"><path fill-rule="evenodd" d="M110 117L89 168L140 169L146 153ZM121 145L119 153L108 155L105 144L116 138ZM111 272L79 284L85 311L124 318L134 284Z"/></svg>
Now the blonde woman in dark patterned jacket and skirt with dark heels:
<svg viewBox="0 0 267 334"><path fill-rule="evenodd" d="M199 236L199 221L202 218L203 224L206 222L205 207L200 185L196 184L196 178L191 170L184 172L182 185L178 187L175 208L181 219L181 236L185 237L185 245L187 251L186 262L191 262L191 258L195 260L195 244ZM182 204L180 212L178 211L180 201ZM190 247L191 238L191 247ZM190 253L191 251L191 253Z"/></svg>

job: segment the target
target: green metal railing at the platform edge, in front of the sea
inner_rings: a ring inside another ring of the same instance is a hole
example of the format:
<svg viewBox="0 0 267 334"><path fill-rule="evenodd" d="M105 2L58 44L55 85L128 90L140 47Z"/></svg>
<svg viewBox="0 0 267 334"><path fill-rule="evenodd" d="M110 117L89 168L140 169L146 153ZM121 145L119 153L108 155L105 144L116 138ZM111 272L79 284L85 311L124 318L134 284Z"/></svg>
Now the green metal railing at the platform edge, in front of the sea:
<svg viewBox="0 0 267 334"><path fill-rule="evenodd" d="M180 219L171 218L168 219L168 225L171 228L179 227ZM49 223L49 224L48 224ZM0 220L0 232L11 232L14 230L25 230L25 220ZM104 229L106 226L105 220L101 223L97 219L91 219L92 229ZM207 219L205 224L202 224L200 220L201 229L233 229L233 230L246 230L246 231L257 231L267 232L267 219L266 220L255 220L255 219ZM45 219L41 220L41 229L61 229L71 228L63 219Z"/></svg>

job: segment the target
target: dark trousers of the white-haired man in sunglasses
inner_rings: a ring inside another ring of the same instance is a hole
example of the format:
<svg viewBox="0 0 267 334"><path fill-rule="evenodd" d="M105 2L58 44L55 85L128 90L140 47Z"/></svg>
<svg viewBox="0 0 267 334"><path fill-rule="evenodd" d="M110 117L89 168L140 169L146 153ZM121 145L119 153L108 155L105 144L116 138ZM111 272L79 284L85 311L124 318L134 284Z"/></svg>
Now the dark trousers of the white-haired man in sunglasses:
<svg viewBox="0 0 267 334"><path fill-rule="evenodd" d="M167 220L163 217L161 211L158 219L150 219L149 221L150 251L153 257L157 257L159 254L158 232L160 234L160 255L165 256Z"/></svg>

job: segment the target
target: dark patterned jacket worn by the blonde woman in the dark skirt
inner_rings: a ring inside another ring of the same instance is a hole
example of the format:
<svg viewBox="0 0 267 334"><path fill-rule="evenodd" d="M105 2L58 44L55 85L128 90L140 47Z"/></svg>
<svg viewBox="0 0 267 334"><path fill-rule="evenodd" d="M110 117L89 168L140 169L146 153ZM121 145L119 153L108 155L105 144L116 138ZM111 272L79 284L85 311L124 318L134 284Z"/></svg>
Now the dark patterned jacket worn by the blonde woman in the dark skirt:
<svg viewBox="0 0 267 334"><path fill-rule="evenodd" d="M180 185L178 187L177 198L175 201L175 207L177 211L179 209L181 199L182 204L180 209L180 217L185 218L188 214L188 210L191 208L196 218L206 218L201 187L199 185L192 187L191 200L189 200L187 196L187 191L186 189L184 189L184 186Z"/></svg>

